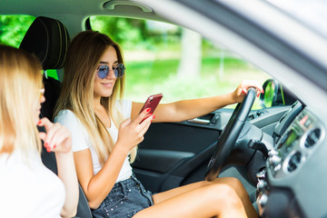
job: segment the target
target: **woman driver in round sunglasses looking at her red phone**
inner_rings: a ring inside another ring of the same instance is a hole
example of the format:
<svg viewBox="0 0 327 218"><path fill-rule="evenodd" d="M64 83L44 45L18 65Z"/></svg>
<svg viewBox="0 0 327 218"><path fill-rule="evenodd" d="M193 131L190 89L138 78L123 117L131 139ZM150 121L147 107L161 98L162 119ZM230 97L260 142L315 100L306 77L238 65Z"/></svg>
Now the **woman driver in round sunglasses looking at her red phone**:
<svg viewBox="0 0 327 218"><path fill-rule="evenodd" d="M122 100L124 62L108 36L76 35L64 66L55 122L72 132L74 162L94 217L257 217L248 194L235 178L192 183L152 194L134 176L130 162L152 122L179 122L242 102L245 81L231 94L159 104L139 114L143 104ZM141 121L148 116L144 122Z"/></svg>

